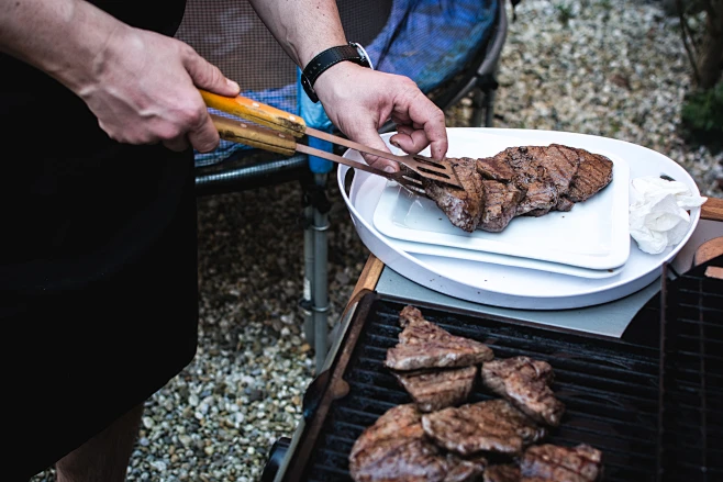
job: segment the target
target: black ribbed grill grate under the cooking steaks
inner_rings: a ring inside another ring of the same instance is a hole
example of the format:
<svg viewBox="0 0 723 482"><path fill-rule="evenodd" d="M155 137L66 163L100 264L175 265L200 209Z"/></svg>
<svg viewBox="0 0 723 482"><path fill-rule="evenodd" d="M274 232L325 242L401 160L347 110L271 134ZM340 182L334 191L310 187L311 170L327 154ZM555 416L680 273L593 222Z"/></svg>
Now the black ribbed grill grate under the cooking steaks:
<svg viewBox="0 0 723 482"><path fill-rule="evenodd" d="M388 408L411 402L382 365L401 332L399 312L407 303L370 296L363 300L370 307L345 369L349 392L330 406L305 480L351 481L347 457L356 438ZM556 377L553 390L567 411L548 440L602 450L605 481L655 480L657 347L415 305L452 334L488 344L497 357L526 355L549 362ZM476 388L470 401L492 396Z"/></svg>

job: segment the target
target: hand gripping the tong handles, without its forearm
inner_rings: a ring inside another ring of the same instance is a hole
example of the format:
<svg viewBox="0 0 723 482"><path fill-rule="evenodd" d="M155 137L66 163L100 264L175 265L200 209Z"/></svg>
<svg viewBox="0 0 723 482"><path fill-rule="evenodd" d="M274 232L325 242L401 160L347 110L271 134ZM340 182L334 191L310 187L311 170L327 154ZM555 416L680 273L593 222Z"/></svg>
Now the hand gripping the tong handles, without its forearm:
<svg viewBox="0 0 723 482"><path fill-rule="evenodd" d="M189 45L122 25L74 90L118 142L208 153L219 133L198 88L229 97L240 90Z"/></svg>

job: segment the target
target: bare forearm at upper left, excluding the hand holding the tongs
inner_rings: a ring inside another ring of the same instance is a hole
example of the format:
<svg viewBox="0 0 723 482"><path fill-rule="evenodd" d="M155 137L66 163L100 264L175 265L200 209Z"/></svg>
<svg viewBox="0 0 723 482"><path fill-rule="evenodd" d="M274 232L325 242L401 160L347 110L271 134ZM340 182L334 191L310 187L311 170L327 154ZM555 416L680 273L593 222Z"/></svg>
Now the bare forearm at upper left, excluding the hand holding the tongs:
<svg viewBox="0 0 723 482"><path fill-rule="evenodd" d="M82 0L0 0L0 51L79 93L105 65L124 24Z"/></svg>

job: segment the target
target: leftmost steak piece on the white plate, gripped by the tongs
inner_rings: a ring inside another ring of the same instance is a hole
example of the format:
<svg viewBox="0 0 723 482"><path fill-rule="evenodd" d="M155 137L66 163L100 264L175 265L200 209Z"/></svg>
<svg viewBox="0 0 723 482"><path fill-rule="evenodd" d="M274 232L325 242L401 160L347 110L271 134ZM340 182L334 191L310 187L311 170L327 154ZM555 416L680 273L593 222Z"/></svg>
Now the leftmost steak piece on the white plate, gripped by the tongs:
<svg viewBox="0 0 723 482"><path fill-rule="evenodd" d="M469 157L448 157L443 162L452 166L463 189L423 178L426 195L436 202L452 224L471 233L479 224L485 205L482 177L477 172L475 159Z"/></svg>

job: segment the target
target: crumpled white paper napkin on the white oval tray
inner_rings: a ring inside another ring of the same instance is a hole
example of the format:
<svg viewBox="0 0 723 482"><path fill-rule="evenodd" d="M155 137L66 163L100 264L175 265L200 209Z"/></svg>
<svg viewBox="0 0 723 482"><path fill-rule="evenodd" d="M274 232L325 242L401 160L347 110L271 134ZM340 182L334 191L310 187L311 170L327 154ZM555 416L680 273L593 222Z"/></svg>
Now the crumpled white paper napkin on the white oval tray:
<svg viewBox="0 0 723 482"><path fill-rule="evenodd" d="M682 182L657 176L635 178L631 184L630 235L650 255L680 243L690 224L687 210L708 201Z"/></svg>

